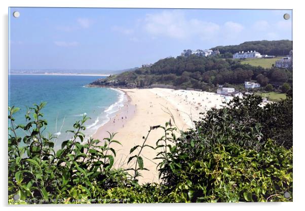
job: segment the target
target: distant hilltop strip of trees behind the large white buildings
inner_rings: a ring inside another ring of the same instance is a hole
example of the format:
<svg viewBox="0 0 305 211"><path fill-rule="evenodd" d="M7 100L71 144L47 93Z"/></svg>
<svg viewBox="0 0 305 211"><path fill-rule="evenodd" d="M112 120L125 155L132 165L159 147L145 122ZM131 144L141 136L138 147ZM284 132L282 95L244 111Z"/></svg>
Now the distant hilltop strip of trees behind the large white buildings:
<svg viewBox="0 0 305 211"><path fill-rule="evenodd" d="M268 54L274 56L285 56L292 50L292 41L279 40L279 41L250 41L244 42L234 46L216 46L212 50L219 49L220 52L236 53L239 51L257 51L261 54Z"/></svg>

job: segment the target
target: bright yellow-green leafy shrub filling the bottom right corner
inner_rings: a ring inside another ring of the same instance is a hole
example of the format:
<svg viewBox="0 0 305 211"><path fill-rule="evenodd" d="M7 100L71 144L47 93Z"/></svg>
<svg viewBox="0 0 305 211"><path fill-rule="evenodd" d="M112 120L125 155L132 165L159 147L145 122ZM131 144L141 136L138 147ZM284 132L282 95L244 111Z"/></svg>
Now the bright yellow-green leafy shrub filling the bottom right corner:
<svg viewBox="0 0 305 211"><path fill-rule="evenodd" d="M276 146L272 140L260 152L219 144L185 168L173 166L178 182L167 202L292 200L284 197L285 192L292 193L292 149Z"/></svg>

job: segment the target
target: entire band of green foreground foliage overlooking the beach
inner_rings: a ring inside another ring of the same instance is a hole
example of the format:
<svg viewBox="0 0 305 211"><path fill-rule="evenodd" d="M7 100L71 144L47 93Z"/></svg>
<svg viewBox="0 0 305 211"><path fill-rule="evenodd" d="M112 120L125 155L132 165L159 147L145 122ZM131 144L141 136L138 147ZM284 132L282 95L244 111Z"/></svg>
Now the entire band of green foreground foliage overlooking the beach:
<svg viewBox="0 0 305 211"><path fill-rule="evenodd" d="M143 144L130 150L130 169L113 167L115 134L84 140L87 117L56 151L54 137L43 133L44 103L29 109L26 125L16 126L19 109L9 108L9 203L292 201L292 94L265 107L260 102L234 98L179 136L171 121L150 127ZM164 131L155 146L146 145L151 130ZM158 152L160 184L138 183L147 170L146 147ZM14 200L15 194L31 201Z"/></svg>

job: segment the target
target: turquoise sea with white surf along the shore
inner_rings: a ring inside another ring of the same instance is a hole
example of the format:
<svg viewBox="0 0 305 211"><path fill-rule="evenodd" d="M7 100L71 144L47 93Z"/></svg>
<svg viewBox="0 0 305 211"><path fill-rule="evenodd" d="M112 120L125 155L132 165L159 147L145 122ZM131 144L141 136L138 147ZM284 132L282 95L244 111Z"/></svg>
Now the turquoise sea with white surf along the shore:
<svg viewBox="0 0 305 211"><path fill-rule="evenodd" d="M45 134L58 136L57 146L71 137L71 133L65 131L73 129L75 121L81 120L84 114L91 118L85 123L85 134L93 134L124 103L122 91L86 87L99 78L102 77L9 75L9 106L20 108L15 115L16 124L25 124L27 107L45 101L47 105L42 111L48 121Z"/></svg>

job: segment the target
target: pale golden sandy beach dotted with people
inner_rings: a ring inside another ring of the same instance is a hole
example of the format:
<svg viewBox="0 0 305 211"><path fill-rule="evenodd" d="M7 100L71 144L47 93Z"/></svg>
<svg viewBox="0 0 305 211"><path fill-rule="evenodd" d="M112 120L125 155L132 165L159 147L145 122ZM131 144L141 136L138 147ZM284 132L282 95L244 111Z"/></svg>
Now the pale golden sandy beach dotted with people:
<svg viewBox="0 0 305 211"><path fill-rule="evenodd" d="M193 127L192 120L199 120L199 113L205 113L212 107L220 108L225 100L223 96L210 92L173 90L163 88L153 89L121 89L127 95L124 107L111 118L109 122L101 126L93 135L94 138L103 139L108 137L109 132L117 132L115 139L123 146L113 144L117 151L115 167L131 167L127 165L130 157L130 149L136 145L142 145L143 136L146 136L150 126L163 125L171 119L172 114L176 127L187 130ZM164 134L161 128L150 132L147 145L155 146L157 140ZM134 152L137 153L137 150ZM144 167L149 171L142 170L143 177L140 183L158 182L158 160L156 151L144 148L141 156Z"/></svg>

